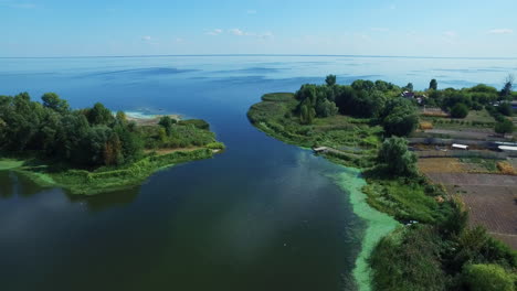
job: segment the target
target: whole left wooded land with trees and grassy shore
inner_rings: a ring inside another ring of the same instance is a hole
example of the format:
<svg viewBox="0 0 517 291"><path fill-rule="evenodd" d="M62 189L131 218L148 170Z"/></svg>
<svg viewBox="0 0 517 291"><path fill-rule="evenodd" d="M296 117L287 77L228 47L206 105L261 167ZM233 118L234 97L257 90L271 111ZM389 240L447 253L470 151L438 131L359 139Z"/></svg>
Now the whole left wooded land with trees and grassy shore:
<svg viewBox="0 0 517 291"><path fill-rule="evenodd" d="M204 120L128 117L101 103L71 109L54 93L0 96L0 171L94 195L140 185L152 173L224 150Z"/></svg>

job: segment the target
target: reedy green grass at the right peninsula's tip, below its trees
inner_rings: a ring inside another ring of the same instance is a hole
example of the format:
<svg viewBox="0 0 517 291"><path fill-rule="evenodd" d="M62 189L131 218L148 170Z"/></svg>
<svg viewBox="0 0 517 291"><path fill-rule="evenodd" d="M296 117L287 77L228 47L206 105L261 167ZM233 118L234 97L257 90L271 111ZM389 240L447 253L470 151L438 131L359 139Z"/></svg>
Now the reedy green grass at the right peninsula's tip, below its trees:
<svg viewBox="0 0 517 291"><path fill-rule="evenodd" d="M302 125L295 110L298 100L293 94L267 94L253 105L247 117L260 130L286 143L304 148L314 146L337 149L344 154L328 157L335 162L366 168L381 142L381 127L371 127L369 119L342 115L315 118L313 125Z"/></svg>

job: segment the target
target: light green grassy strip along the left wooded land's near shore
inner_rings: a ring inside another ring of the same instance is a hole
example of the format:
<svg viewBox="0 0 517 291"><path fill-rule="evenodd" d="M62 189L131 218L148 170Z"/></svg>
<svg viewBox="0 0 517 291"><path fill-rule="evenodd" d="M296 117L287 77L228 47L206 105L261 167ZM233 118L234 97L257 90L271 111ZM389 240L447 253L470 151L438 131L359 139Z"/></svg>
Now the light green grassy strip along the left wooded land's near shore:
<svg viewBox="0 0 517 291"><path fill-rule="evenodd" d="M70 194L76 195L96 195L140 185L157 171L212 155L211 149L177 151L162 155L151 154L124 168L101 168L95 171L71 170L59 165L48 166L34 161L10 162L10 164L18 165L10 169L28 176L41 186L62 187ZM0 165L3 165L3 161Z"/></svg>

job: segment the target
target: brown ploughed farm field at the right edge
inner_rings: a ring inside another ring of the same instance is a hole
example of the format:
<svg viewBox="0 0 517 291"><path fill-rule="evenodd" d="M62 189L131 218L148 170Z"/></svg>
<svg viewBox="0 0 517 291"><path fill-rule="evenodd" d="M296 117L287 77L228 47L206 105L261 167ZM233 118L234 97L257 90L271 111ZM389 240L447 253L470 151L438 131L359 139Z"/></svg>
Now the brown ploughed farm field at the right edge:
<svg viewBox="0 0 517 291"><path fill-rule="evenodd" d="M517 175L511 163L483 159L420 159L419 168L469 211L471 226L484 226L517 249Z"/></svg>

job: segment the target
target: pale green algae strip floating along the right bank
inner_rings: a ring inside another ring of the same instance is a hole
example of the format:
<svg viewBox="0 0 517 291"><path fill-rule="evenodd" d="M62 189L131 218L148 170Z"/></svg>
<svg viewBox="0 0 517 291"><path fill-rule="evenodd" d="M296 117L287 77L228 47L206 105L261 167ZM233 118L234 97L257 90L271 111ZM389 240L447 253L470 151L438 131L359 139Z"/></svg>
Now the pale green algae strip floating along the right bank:
<svg viewBox="0 0 517 291"><path fill-rule="evenodd" d="M361 251L356 259L352 276L360 291L371 290L371 268L368 263L373 248L379 240L393 231L400 224L391 216L380 213L367 203L362 187L367 184L360 177L360 171L342 166L344 171L337 175L337 184L350 195L354 213L367 223L362 237Z"/></svg>

